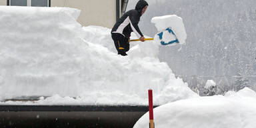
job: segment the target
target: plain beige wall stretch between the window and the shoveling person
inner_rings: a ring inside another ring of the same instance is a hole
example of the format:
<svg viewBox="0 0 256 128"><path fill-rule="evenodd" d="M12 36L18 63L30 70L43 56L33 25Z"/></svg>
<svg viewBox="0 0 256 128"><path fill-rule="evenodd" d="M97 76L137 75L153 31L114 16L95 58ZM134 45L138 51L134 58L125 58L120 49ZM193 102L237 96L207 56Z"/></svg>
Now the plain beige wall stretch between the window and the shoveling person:
<svg viewBox="0 0 256 128"><path fill-rule="evenodd" d="M108 28L112 28L116 21L115 4L116 0L51 0L51 7L81 9L78 21L84 26L98 25Z"/></svg>

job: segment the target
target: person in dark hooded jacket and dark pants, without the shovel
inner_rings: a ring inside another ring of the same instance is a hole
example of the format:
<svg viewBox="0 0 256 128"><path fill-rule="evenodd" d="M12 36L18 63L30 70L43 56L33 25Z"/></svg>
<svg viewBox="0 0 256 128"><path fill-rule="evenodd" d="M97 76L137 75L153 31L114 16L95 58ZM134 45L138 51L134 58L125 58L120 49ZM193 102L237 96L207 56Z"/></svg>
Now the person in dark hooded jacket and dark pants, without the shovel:
<svg viewBox="0 0 256 128"><path fill-rule="evenodd" d="M126 52L129 51L129 38L132 31L136 33L140 41L144 41L145 38L139 29L138 23L141 15L147 10L148 5L146 1L139 0L135 9L127 11L117 23L115 23L111 31L111 36L118 54L123 56L127 55Z"/></svg>

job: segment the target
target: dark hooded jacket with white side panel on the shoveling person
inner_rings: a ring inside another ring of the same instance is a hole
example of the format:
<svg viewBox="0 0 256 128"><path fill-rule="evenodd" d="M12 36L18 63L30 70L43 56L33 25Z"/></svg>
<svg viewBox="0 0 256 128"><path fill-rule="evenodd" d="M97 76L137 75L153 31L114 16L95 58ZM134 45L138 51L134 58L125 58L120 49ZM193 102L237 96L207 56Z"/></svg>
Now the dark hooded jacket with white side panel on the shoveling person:
<svg viewBox="0 0 256 128"><path fill-rule="evenodd" d="M145 0L139 0L135 9L127 11L123 16L117 20L111 33L121 33L125 37L129 38L131 32L135 32L137 37L143 37L141 30L139 29L138 23L141 17L142 9L148 6Z"/></svg>

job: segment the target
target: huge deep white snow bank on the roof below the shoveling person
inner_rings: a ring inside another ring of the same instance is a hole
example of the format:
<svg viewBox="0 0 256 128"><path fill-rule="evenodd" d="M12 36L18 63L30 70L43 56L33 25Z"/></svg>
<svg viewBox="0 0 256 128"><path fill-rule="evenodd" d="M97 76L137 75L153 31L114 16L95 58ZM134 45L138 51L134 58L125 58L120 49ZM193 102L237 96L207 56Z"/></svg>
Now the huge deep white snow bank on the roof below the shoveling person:
<svg viewBox="0 0 256 128"><path fill-rule="evenodd" d="M82 27L78 9L0 6L1 104L155 105L198 97L167 63L155 41L117 55L110 29ZM3 101L43 96L35 102Z"/></svg>

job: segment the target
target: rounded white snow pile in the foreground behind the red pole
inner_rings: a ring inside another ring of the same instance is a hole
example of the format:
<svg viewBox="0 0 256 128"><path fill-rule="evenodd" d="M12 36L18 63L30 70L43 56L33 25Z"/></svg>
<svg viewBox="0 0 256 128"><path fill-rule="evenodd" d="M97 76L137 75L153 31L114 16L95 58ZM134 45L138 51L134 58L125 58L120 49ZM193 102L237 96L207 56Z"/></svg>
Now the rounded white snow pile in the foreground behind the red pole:
<svg viewBox="0 0 256 128"><path fill-rule="evenodd" d="M225 96L198 97L175 101L154 109L155 127L166 128L254 128L256 93L245 88ZM149 127L149 113L134 128Z"/></svg>

